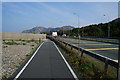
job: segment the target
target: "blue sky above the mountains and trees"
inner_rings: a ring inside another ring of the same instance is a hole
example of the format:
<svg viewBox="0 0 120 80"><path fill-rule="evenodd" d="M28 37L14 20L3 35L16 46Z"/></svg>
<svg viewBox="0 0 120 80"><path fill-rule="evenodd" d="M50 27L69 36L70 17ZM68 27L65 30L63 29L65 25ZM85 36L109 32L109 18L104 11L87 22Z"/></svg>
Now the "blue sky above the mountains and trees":
<svg viewBox="0 0 120 80"><path fill-rule="evenodd" d="M74 14L76 13L76 15ZM103 16L106 15L106 16ZM21 33L36 26L84 27L118 18L117 2L3 2L2 32Z"/></svg>

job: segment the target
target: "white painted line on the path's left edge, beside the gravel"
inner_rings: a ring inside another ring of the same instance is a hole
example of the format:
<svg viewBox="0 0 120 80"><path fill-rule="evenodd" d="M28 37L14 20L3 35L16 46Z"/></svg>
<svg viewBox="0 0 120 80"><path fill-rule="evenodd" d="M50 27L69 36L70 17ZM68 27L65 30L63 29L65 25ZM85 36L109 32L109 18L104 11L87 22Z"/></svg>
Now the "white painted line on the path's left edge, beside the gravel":
<svg viewBox="0 0 120 80"><path fill-rule="evenodd" d="M44 42L43 42L44 43ZM29 59L29 61L25 64L25 66L22 68L22 70L17 74L17 76L14 78L14 80L17 80L18 77L22 74L22 72L25 70L25 68L28 66L28 64L31 62L33 57L36 55L37 51L40 49L40 47L43 45L43 43L37 48L35 53L32 55L32 57Z"/></svg>

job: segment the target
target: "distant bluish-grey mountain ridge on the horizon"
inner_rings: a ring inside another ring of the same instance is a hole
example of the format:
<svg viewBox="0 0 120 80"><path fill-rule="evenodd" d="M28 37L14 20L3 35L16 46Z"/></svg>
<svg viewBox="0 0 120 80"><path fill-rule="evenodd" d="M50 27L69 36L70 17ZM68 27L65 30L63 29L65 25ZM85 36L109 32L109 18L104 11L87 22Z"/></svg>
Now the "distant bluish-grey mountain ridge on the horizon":
<svg viewBox="0 0 120 80"><path fill-rule="evenodd" d="M60 30L72 30L73 26L63 26L58 28L45 28L45 27L34 27L32 29L24 30L22 33L42 33L42 32L52 32L52 31L60 31Z"/></svg>

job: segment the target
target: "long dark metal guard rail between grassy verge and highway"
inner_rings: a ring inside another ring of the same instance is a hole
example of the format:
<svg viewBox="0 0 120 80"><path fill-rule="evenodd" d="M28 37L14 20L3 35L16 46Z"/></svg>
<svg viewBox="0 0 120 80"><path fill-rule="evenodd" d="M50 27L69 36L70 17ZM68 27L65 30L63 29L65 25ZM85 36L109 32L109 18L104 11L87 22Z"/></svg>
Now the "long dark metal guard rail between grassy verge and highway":
<svg viewBox="0 0 120 80"><path fill-rule="evenodd" d="M89 56L92 56L92 57L95 58L95 59L98 59L98 60L104 62L104 63L105 63L105 71L106 71L106 72L107 72L108 65L111 65L111 66L113 66L113 67L115 67L115 68L118 69L118 62L114 61L113 59L110 59L110 58L108 58L108 57L105 57L105 56L96 54L96 53L94 53L94 52L92 52L92 51L85 50L85 49L80 48L80 47L78 47L78 46L74 46L74 45L72 45L72 44L70 44L70 43L68 43L68 42L61 41L61 40L56 39L56 38L54 38L54 37L47 36L47 38L49 38L49 39L51 39L51 40L53 40L53 41L58 41L58 42L64 43L65 45L70 46L71 49L72 49L72 48L75 48L75 49L77 49L77 50L79 49L82 53L85 53L85 54L87 54L87 55L89 55Z"/></svg>

